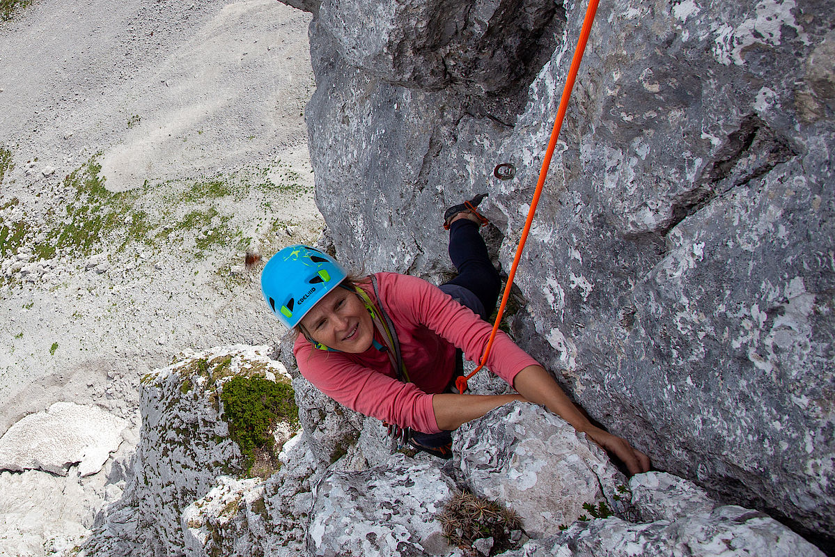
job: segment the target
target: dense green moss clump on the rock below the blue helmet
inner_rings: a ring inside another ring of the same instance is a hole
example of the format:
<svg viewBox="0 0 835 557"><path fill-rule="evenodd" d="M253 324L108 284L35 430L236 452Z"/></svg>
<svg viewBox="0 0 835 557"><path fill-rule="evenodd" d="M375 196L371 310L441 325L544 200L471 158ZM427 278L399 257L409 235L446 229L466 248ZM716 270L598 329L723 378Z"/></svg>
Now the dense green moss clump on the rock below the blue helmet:
<svg viewBox="0 0 835 557"><path fill-rule="evenodd" d="M220 401L230 436L240 446L248 472L256 462L256 453L264 456L266 451L275 460L272 432L276 424L296 425L299 421L293 387L285 382L236 376L224 383Z"/></svg>

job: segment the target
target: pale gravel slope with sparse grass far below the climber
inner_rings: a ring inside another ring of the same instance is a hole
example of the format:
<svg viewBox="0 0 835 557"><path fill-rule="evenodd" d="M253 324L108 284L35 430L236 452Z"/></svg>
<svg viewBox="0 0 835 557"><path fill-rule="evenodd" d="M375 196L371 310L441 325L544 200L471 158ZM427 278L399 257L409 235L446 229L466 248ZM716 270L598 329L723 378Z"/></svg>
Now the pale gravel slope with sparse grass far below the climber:
<svg viewBox="0 0 835 557"><path fill-rule="evenodd" d="M245 253L321 232L309 21L274 0L40 0L0 22L0 434L53 403L128 424L93 473L0 438L0 555L62 554L118 497L144 373L281 337ZM23 437L60 446L43 416Z"/></svg>

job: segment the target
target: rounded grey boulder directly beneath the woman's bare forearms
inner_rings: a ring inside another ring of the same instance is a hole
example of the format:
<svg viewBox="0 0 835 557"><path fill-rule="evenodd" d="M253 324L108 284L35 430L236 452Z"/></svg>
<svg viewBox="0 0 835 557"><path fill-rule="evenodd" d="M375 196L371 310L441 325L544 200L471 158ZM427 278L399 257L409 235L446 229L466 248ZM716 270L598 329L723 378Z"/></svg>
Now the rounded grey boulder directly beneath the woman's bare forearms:
<svg viewBox="0 0 835 557"><path fill-rule="evenodd" d="M506 404L465 423L453 452L468 488L514 510L532 537L588 515L588 507L624 506L626 479L603 449L535 404Z"/></svg>

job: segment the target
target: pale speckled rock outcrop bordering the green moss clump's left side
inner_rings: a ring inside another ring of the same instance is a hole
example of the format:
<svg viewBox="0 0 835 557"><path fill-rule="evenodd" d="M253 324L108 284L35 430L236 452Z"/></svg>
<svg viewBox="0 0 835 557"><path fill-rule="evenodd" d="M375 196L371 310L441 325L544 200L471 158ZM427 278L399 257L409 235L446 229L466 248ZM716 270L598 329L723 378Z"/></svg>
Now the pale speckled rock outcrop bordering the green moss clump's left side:
<svg viewBox="0 0 835 557"><path fill-rule="evenodd" d="M245 472L222 418L220 392L236 376L284 376L271 347L220 347L184 357L142 378L142 428L122 499L99 515L84 554L185 554L185 509L218 477ZM188 520L186 520L188 522Z"/></svg>

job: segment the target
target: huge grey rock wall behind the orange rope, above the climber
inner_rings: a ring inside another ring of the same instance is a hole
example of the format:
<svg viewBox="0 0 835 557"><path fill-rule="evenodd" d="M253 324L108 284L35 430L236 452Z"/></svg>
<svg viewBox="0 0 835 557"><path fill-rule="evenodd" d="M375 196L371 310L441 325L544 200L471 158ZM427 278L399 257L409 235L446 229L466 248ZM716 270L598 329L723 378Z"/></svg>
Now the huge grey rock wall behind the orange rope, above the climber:
<svg viewBox="0 0 835 557"><path fill-rule="evenodd" d="M438 279L443 208L485 191L509 268L585 5L302 7L337 256ZM656 466L829 547L835 33L819 14L833 10L601 3L514 323ZM504 162L512 180L492 175Z"/></svg>

